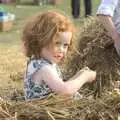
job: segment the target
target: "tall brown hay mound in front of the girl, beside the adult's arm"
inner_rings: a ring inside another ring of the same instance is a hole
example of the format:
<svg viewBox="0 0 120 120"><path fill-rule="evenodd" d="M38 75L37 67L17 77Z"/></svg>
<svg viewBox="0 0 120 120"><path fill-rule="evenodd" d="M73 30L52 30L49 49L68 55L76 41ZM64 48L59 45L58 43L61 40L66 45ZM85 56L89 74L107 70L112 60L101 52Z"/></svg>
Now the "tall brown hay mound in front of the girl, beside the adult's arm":
<svg viewBox="0 0 120 120"><path fill-rule="evenodd" d="M120 57L113 40L96 17L84 21L77 52L67 62L65 71L70 73L67 79L85 66L97 71L97 82L102 86L120 78Z"/></svg>

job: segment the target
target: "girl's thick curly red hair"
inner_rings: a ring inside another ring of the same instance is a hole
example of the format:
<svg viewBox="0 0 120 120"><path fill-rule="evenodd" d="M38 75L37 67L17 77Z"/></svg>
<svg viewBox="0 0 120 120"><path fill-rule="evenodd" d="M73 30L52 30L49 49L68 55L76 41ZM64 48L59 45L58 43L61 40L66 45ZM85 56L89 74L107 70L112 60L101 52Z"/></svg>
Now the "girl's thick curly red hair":
<svg viewBox="0 0 120 120"><path fill-rule="evenodd" d="M75 27L64 14L54 11L38 13L27 21L22 40L27 57L40 57L43 47L50 44L59 32L72 32L70 48L75 38Z"/></svg>

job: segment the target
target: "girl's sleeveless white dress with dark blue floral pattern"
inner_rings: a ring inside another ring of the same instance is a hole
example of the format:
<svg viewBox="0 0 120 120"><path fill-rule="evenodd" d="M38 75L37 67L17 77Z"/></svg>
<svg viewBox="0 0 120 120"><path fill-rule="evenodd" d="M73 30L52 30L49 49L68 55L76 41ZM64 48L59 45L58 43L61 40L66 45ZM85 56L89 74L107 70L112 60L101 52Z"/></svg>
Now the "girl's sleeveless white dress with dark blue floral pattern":
<svg viewBox="0 0 120 120"><path fill-rule="evenodd" d="M40 58L40 59L31 58L28 61L27 70L26 70L25 79L24 79L24 90L25 90L26 99L44 98L52 92L52 90L48 87L48 85L44 82L44 80L42 84L35 84L32 81L33 74L45 65L52 65L52 64L43 58ZM59 70L59 67L58 66L55 66L55 67L56 67L55 69L57 73L61 77L61 72Z"/></svg>

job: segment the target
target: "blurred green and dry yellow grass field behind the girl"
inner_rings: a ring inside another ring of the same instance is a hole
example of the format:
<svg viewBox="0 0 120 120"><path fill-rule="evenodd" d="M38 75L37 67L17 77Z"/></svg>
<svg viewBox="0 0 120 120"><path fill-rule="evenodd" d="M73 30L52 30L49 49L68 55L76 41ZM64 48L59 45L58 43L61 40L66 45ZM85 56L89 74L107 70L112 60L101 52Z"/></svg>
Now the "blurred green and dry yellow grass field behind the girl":
<svg viewBox="0 0 120 120"><path fill-rule="evenodd" d="M95 15L99 0L92 0L92 15ZM25 57L22 52L21 45L21 30L24 25L24 20L37 12L46 9L57 9L64 11L66 15L71 16L70 0L61 0L56 6L33 5L32 0L21 0L19 5L16 4L0 4L5 11L15 14L16 19L13 22L13 27L9 32L0 32L0 87L12 86L21 87L21 81L11 80L11 75L16 75L23 72L25 68ZM83 1L81 1L81 16L77 20L73 20L74 24L82 27L84 19Z"/></svg>

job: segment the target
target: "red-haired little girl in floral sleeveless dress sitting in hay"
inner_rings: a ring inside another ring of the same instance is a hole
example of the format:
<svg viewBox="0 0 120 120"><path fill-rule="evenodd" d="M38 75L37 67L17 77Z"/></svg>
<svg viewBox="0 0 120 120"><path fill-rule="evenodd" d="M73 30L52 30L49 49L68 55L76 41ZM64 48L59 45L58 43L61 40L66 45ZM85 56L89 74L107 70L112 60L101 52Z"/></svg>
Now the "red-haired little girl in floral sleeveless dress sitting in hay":
<svg viewBox="0 0 120 120"><path fill-rule="evenodd" d="M57 64L73 47L75 28L71 21L58 12L47 11L31 18L23 31L26 56L29 57L25 74L26 98L43 98L51 92L74 94L83 84L95 80L96 72L78 71L67 82Z"/></svg>

